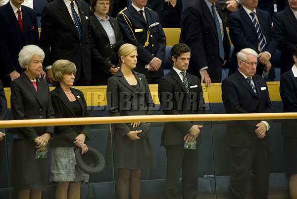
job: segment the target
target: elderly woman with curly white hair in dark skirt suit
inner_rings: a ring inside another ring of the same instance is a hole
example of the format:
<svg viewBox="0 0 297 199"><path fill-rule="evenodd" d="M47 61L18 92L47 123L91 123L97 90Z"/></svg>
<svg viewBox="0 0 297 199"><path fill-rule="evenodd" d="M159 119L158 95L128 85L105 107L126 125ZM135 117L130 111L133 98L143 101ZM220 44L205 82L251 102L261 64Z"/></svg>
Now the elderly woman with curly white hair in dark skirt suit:
<svg viewBox="0 0 297 199"><path fill-rule="evenodd" d="M45 53L35 45L24 46L19 63L25 71L11 83L14 120L54 118L49 87L39 79ZM48 142L53 127L16 128L13 131L12 176L18 199L41 199L48 184Z"/></svg>

